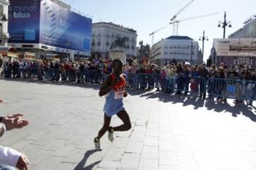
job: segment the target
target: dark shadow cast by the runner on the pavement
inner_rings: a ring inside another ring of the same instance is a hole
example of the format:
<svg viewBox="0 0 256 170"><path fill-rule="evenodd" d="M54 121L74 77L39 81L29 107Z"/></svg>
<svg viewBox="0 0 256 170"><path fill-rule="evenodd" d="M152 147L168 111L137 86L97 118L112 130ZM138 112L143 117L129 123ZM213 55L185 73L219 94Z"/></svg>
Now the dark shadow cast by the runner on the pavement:
<svg viewBox="0 0 256 170"><path fill-rule="evenodd" d="M79 162L79 164L75 166L74 170L91 170L94 166L96 166L97 164L100 164L101 161L97 161L88 166L85 166L87 159L90 157L90 155L94 154L95 152L97 152L97 150L95 149L88 150L87 152L85 152L85 157L83 157L83 159Z"/></svg>

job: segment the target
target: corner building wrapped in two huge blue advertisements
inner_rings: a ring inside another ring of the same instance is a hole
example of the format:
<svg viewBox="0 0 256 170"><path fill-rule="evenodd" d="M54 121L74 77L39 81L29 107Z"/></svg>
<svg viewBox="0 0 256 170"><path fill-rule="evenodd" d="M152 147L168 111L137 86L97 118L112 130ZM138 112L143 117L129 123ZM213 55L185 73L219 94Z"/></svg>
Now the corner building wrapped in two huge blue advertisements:
<svg viewBox="0 0 256 170"><path fill-rule="evenodd" d="M29 52L36 59L80 60L90 57L92 19L60 0L10 0L9 34L21 58Z"/></svg>

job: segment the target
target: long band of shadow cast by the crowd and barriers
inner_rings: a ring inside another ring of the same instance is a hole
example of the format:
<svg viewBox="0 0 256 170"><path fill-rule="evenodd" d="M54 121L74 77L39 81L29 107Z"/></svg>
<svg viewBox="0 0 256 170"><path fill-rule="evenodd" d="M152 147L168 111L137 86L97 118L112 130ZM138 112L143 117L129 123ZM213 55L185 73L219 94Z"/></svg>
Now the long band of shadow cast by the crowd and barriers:
<svg viewBox="0 0 256 170"><path fill-rule="evenodd" d="M57 86L78 86L81 88L95 89L100 90L100 84L76 84L69 83L65 81L38 81L35 79L4 79L6 81L21 81L26 83L35 83L35 84L50 84ZM233 117L238 117L238 115L242 114L245 117L250 118L253 122L256 122L256 107L255 106L245 106L245 104L238 104L235 106L231 106L229 103L218 102L216 103L213 100L201 100L197 99L196 95L175 95L175 94L166 94L164 92L157 92L154 90L146 91L142 89L127 89L127 92L131 96L140 96L142 98L150 99L150 98L159 98L159 101L164 103L183 103L183 106L194 106L193 109L197 110L198 108L206 107L208 111L215 111L217 113L225 112L232 113Z"/></svg>

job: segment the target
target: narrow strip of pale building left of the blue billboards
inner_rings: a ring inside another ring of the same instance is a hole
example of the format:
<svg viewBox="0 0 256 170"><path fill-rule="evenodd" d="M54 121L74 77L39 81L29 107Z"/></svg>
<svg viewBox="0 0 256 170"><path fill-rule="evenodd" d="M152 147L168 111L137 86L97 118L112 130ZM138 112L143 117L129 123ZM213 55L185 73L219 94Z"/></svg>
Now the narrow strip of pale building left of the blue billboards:
<svg viewBox="0 0 256 170"><path fill-rule="evenodd" d="M9 0L0 0L0 46L7 46Z"/></svg>

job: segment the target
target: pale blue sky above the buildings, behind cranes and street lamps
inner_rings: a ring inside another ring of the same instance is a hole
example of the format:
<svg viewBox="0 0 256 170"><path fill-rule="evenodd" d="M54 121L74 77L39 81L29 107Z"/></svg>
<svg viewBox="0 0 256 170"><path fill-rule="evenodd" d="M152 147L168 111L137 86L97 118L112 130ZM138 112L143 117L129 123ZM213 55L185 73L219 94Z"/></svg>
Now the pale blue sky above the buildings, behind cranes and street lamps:
<svg viewBox="0 0 256 170"><path fill-rule="evenodd" d="M89 14L92 22L106 21L123 25L137 30L137 42L143 40L151 45L149 33L163 26L169 25L174 14L190 0L63 0L76 11ZM206 30L209 41L206 42L205 60L210 54L213 38L222 38L223 29L218 28L218 21L223 21L224 11L233 28L227 28L226 35L230 35L252 15L256 15L255 0L195 0L178 18L189 18L207 13L219 14L207 18L186 21L179 25L179 35L188 35L198 40ZM172 35L172 26L155 34L154 42ZM202 42L199 42L202 47Z"/></svg>

